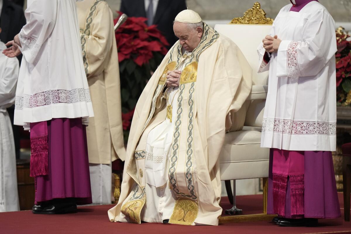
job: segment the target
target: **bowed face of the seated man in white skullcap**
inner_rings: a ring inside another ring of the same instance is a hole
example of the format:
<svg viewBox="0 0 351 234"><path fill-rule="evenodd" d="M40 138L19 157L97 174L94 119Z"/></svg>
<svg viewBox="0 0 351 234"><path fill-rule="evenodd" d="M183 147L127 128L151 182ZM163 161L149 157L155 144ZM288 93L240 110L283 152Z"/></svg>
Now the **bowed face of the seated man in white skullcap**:
<svg viewBox="0 0 351 234"><path fill-rule="evenodd" d="M180 45L188 52L192 52L201 40L202 28L192 28L187 23L174 22L174 34L179 38Z"/></svg>

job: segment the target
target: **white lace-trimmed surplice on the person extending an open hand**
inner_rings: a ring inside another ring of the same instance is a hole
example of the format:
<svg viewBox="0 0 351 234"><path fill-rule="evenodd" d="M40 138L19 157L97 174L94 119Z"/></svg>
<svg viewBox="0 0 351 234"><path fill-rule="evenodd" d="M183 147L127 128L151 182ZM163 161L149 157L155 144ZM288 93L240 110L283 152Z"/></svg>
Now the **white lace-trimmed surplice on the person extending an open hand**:
<svg viewBox="0 0 351 234"><path fill-rule="evenodd" d="M93 116L76 0L28 0L14 123Z"/></svg>

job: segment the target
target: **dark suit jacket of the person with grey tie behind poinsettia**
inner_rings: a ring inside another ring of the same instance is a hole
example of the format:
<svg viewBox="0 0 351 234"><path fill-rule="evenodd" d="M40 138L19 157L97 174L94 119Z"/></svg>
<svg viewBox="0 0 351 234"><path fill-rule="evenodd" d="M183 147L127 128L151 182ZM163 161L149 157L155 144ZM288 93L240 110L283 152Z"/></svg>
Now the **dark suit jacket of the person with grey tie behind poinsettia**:
<svg viewBox="0 0 351 234"><path fill-rule="evenodd" d="M173 20L177 14L186 9L185 0L159 0L153 24L165 35L168 49L178 40L173 32ZM122 0L120 11L128 16L145 17L144 0Z"/></svg>

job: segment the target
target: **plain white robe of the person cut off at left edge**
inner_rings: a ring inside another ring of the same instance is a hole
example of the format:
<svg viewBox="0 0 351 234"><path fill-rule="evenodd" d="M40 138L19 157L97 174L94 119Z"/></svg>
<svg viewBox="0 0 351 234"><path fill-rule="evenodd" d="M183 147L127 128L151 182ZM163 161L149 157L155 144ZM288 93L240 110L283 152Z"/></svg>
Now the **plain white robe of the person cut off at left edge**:
<svg viewBox="0 0 351 234"><path fill-rule="evenodd" d="M4 49L0 41L0 212L19 210L15 144L6 111L15 101L19 63L2 54Z"/></svg>

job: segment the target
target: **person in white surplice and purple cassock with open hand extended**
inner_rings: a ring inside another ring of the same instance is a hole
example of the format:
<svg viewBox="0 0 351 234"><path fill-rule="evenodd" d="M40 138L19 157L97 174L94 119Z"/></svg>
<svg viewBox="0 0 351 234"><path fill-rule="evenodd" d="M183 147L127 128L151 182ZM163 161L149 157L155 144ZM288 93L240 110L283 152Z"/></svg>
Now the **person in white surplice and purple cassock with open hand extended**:
<svg viewBox="0 0 351 234"><path fill-rule="evenodd" d="M93 116L76 0L28 0L27 24L5 49L22 52L14 123L30 129L35 214L91 203L85 119Z"/></svg>

